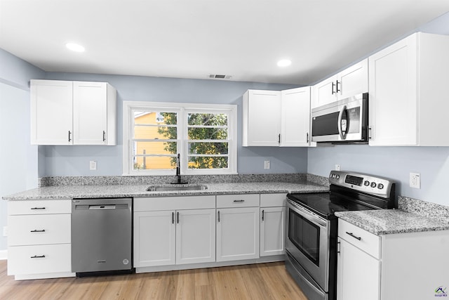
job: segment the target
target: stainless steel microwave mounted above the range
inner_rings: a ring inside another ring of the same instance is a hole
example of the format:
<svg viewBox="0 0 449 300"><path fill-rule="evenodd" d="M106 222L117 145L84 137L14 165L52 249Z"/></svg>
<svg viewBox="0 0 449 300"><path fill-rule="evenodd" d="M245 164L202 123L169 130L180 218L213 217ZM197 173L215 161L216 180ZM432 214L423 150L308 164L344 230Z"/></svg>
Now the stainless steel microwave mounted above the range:
<svg viewBox="0 0 449 300"><path fill-rule="evenodd" d="M368 142L368 93L361 93L311 110L311 141Z"/></svg>

